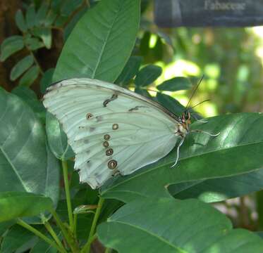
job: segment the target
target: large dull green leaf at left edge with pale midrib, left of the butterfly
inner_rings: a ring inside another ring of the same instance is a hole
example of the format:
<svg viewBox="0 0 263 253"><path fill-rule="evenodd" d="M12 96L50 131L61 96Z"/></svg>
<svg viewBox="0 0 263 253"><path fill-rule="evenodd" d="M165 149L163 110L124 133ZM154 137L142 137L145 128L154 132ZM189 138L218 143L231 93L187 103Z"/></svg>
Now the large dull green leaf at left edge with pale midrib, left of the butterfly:
<svg viewBox="0 0 263 253"><path fill-rule="evenodd" d="M59 164L46 145L44 128L20 98L0 89L0 192L59 195Z"/></svg>

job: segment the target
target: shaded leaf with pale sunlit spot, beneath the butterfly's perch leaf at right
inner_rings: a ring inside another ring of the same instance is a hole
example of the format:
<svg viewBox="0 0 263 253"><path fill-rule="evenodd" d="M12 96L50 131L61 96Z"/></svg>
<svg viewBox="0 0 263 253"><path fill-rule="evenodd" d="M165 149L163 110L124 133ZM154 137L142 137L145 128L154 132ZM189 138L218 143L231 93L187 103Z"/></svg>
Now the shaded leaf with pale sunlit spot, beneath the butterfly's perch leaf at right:
<svg viewBox="0 0 263 253"><path fill-rule="evenodd" d="M204 202L219 202L240 197L263 188L263 169L222 179L208 179L169 186L169 192L178 199L198 198ZM192 185L190 185L192 184Z"/></svg>

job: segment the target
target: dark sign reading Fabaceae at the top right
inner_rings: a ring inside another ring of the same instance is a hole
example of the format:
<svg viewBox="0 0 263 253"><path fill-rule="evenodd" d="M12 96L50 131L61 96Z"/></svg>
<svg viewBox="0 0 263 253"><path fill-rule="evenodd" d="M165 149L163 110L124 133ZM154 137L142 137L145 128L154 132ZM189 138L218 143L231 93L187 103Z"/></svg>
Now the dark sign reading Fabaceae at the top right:
<svg viewBox="0 0 263 253"><path fill-rule="evenodd" d="M159 27L263 25L263 0L155 0Z"/></svg>

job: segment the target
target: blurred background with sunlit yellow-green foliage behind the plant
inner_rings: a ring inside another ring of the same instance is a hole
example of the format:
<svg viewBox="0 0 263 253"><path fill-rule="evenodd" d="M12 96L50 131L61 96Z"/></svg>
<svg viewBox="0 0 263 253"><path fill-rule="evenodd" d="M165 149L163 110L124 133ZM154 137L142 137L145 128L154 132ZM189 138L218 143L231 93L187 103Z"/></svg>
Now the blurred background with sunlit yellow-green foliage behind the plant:
<svg viewBox="0 0 263 253"><path fill-rule="evenodd" d="M56 20L48 26L50 34L44 38L46 44L39 44L34 51L30 51L39 67L31 79L30 88L39 98L42 96L39 84L44 72L56 66L68 34L87 8L97 1L1 0L0 44L12 35L25 36L16 25L19 9L25 12L32 4L39 9L43 2L53 6ZM191 100L191 105L195 105L209 99L196 108L204 117L262 111L263 27L160 29L154 25L153 8L151 0L142 0L140 31L133 51L133 55L142 56L142 66L154 64L163 69L161 76L147 87L152 96L155 96L156 86L166 79L188 77L192 84L197 84L204 74L202 84ZM11 81L11 69L27 55L28 48L23 48L0 63L0 84L6 90L11 91L18 86L21 77ZM164 93L186 105L192 91ZM231 216L236 226L260 230L263 229L262 203L263 196L259 192L216 204L216 207Z"/></svg>

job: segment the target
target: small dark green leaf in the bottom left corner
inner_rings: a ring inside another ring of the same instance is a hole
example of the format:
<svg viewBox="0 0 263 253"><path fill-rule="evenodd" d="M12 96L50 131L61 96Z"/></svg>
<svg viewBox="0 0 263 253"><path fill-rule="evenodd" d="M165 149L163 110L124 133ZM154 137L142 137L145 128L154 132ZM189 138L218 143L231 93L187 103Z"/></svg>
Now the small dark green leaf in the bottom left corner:
<svg viewBox="0 0 263 253"><path fill-rule="evenodd" d="M1 253L16 252L16 249L35 238L35 235L19 225L13 226L4 236L1 243Z"/></svg>

